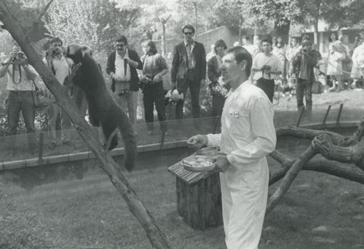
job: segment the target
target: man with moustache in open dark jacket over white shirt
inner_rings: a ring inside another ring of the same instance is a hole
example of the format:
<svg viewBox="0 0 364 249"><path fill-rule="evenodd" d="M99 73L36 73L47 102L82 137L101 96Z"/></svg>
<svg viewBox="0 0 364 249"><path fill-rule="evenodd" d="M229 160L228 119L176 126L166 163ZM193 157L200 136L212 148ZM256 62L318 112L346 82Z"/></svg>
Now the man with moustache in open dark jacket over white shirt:
<svg viewBox="0 0 364 249"><path fill-rule="evenodd" d="M136 51L127 48L125 36L118 37L115 46L116 51L108 56L106 73L111 76L111 90L115 93L116 102L128 113L131 123L135 124L139 90L136 69L143 69L143 65Z"/></svg>

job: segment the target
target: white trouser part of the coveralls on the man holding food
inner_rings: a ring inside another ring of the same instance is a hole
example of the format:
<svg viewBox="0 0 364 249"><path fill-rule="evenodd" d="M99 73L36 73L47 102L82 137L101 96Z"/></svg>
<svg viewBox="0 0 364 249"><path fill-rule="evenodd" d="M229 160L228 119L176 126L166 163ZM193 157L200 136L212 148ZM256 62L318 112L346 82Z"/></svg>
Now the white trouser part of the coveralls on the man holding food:
<svg viewBox="0 0 364 249"><path fill-rule="evenodd" d="M260 164L260 163L259 163ZM257 249L268 198L269 171L264 160L256 177L231 184L228 173L220 173L223 228L228 249Z"/></svg>

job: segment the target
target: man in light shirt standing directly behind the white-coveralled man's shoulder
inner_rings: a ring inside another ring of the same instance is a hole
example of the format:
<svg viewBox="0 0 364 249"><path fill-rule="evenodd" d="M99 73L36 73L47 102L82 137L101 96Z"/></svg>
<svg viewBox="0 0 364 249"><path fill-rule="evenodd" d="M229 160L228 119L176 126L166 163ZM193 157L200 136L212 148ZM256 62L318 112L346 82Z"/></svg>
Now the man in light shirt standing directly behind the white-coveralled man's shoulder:
<svg viewBox="0 0 364 249"><path fill-rule="evenodd" d="M261 88L273 102L274 96L274 79L282 73L282 66L277 56L272 54L272 41L270 39L262 40L263 52L258 53L253 58L251 71L255 72L253 79L256 80L256 86Z"/></svg>

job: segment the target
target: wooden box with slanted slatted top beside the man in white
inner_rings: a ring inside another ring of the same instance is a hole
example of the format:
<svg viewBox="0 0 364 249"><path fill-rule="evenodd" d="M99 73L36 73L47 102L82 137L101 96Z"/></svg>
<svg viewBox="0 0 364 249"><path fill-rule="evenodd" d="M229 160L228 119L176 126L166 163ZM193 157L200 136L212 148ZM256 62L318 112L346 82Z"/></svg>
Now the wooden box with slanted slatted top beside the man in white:
<svg viewBox="0 0 364 249"><path fill-rule="evenodd" d="M194 229L223 223L218 173L191 172L181 162L168 168L176 176L177 212Z"/></svg>

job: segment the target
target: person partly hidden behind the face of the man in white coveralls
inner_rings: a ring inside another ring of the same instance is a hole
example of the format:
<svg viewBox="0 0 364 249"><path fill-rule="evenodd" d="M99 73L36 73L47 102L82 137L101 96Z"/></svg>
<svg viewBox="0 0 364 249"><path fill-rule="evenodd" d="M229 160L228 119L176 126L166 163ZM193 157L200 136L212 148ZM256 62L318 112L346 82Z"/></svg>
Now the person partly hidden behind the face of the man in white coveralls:
<svg viewBox="0 0 364 249"><path fill-rule="evenodd" d="M208 79L211 81L209 86L212 95L213 116L217 117L215 122L220 121L221 114L223 113L223 105L225 103L226 93L228 93L229 90L228 86L223 84L221 79L219 79L221 76L221 64L223 63L222 59L227 48L228 46L226 46L225 41L216 41L216 54L211 57L207 63L207 75Z"/></svg>

